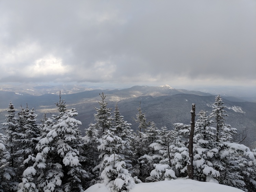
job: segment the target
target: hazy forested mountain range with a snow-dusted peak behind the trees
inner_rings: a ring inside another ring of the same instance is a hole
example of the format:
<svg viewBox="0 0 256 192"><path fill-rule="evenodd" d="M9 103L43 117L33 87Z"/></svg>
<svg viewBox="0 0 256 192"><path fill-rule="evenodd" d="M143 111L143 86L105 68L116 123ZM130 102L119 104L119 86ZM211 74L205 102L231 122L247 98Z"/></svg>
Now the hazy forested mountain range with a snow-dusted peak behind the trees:
<svg viewBox="0 0 256 192"><path fill-rule="evenodd" d="M57 88L59 90L57 91ZM65 88L65 89L64 89ZM49 92L49 90L51 91ZM36 91L35 91L36 90ZM54 91L53 91L54 90ZM137 123L132 117L136 118L137 108L141 103L142 112L145 113L148 121L154 121L158 128L166 126L171 129L174 123L190 124L192 103L196 104L196 113L200 110L212 111L216 94L202 91L190 91L185 89L175 89L168 85L165 86L133 86L125 89L95 89L85 86L34 86L34 87L14 87L6 89L2 86L0 90L0 123L4 122L9 102L12 101L17 110L28 105L35 108L39 114L38 119L42 118L43 113L57 113L54 103L59 101L59 93L65 100L67 108L76 108L78 117L82 122L80 129L88 128L94 121L94 106L98 107L101 100L99 94L106 94L108 107L114 108L118 104L121 115L131 123L131 128L137 130ZM49 93L44 94L46 91ZM33 94L29 94L33 92ZM53 94L52 94L53 93ZM71 93L71 94L69 94ZM244 144L256 147L256 103L248 102L244 98L222 96L227 114L226 123L237 128L239 133L246 130L247 137ZM238 136L239 137L239 136ZM240 139L242 135L240 135ZM239 138L238 138L239 139Z"/></svg>

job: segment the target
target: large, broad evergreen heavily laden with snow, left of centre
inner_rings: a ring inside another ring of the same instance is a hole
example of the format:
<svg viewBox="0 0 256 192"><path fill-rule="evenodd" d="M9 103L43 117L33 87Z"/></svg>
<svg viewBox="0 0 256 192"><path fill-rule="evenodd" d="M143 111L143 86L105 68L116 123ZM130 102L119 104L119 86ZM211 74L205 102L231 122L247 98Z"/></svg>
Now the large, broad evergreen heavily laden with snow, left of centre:
<svg viewBox="0 0 256 192"><path fill-rule="evenodd" d="M83 191L82 180L88 177L79 163L81 125L75 109L65 111L65 103L57 105L59 113L46 137L40 139L34 168L37 170L37 189L43 191ZM78 146L79 145L79 146Z"/></svg>

